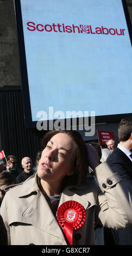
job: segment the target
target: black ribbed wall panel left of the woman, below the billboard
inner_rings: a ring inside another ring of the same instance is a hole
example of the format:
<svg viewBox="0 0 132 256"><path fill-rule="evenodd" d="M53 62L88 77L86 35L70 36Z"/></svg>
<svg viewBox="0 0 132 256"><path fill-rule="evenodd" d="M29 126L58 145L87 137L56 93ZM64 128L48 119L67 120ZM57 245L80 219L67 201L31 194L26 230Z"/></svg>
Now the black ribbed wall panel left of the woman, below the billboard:
<svg viewBox="0 0 132 256"><path fill-rule="evenodd" d="M0 151L4 150L6 157L15 155L19 169L25 156L35 164L36 154L43 148L41 141L45 132L28 129L24 124L21 87L0 88L0 109Z"/></svg>

